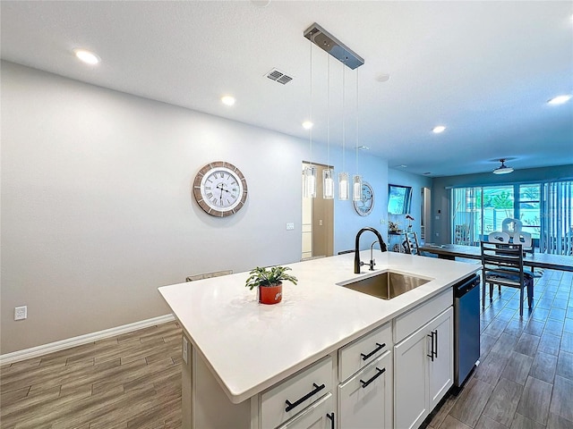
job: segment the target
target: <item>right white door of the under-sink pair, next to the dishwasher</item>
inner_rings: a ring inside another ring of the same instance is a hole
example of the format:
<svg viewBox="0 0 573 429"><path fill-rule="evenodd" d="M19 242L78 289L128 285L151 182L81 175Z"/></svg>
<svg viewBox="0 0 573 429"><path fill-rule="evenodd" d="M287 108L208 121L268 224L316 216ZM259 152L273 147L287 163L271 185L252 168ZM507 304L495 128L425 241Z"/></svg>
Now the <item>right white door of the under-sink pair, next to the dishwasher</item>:
<svg viewBox="0 0 573 429"><path fill-rule="evenodd" d="M429 357L428 386L432 410L454 383L454 310L448 310L430 322L429 332L434 333L433 349L436 354L433 360ZM432 339L431 339L432 340ZM431 347L432 351L432 347ZM431 353L429 353L431 354Z"/></svg>

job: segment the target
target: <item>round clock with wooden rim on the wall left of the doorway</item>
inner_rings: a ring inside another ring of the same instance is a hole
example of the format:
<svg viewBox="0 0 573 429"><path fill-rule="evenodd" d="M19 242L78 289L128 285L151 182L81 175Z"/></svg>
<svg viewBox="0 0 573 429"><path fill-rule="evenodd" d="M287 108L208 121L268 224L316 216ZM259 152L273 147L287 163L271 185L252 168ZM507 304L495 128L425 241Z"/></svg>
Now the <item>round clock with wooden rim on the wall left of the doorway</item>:
<svg viewBox="0 0 573 429"><path fill-rule="evenodd" d="M247 199L247 181L233 164L205 165L193 181L193 196L206 213L225 217L238 212Z"/></svg>

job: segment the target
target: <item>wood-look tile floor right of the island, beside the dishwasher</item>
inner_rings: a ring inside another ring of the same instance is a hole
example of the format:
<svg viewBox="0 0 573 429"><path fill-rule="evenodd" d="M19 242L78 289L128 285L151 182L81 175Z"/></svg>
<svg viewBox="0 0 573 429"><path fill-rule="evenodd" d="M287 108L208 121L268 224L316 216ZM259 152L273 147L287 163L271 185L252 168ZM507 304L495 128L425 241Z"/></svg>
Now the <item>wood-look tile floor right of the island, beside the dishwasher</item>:
<svg viewBox="0 0 573 429"><path fill-rule="evenodd" d="M519 290L486 294L481 364L428 429L573 429L572 289L573 273L545 270L521 317Z"/></svg>

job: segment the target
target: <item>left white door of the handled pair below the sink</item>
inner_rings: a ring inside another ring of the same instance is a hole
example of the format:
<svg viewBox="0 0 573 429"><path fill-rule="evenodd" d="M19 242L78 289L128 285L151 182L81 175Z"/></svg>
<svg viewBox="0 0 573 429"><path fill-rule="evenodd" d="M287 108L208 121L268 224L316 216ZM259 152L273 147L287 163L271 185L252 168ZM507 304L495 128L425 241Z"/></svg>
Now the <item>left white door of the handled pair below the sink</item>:
<svg viewBox="0 0 573 429"><path fill-rule="evenodd" d="M428 360L431 338L425 326L394 348L394 426L418 427L428 414Z"/></svg>

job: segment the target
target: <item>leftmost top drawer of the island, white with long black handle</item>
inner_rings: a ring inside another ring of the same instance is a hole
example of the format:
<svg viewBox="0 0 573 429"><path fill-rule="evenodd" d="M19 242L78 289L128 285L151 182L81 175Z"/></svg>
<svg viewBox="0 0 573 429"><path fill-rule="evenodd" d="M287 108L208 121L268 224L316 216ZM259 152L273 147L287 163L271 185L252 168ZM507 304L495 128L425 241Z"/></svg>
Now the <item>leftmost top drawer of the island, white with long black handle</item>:
<svg viewBox="0 0 573 429"><path fill-rule="evenodd" d="M332 357L328 356L261 394L261 427L277 427L330 391Z"/></svg>

